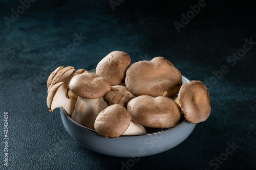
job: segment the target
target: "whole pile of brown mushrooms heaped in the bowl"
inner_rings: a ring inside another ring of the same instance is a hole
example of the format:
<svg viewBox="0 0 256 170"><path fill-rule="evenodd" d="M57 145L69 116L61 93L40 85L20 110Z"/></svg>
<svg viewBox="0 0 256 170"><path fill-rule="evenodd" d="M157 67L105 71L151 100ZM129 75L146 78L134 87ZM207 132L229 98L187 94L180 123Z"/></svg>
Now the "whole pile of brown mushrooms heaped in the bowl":
<svg viewBox="0 0 256 170"><path fill-rule="evenodd" d="M74 70L60 66L52 72L47 106L50 112L62 107L75 122L103 137L171 128L182 114L197 124L210 114L206 86L201 81L182 85L181 72L163 57L131 64L128 54L114 51L98 63L96 74Z"/></svg>

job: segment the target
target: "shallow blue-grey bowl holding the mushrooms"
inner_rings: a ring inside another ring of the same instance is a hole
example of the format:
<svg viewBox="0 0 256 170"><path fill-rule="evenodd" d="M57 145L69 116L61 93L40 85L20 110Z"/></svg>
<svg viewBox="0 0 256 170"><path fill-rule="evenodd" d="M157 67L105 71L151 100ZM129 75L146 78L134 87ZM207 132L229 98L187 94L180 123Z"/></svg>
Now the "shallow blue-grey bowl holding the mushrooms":
<svg viewBox="0 0 256 170"><path fill-rule="evenodd" d="M182 76L182 81L184 84L189 80ZM75 141L91 151L116 157L143 157L167 151L184 141L196 127L196 124L191 124L182 117L173 128L145 135L110 139L99 136L95 130L77 124L63 108L60 108L60 115L65 129Z"/></svg>

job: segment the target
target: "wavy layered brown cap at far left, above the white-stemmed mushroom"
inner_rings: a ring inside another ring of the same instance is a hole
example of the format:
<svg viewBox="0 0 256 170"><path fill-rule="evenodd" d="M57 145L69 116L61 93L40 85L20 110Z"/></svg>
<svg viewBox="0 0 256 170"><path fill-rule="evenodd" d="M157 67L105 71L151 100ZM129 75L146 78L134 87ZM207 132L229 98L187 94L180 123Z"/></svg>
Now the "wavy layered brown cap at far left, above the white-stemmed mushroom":
<svg viewBox="0 0 256 170"><path fill-rule="evenodd" d="M47 92L50 91L51 87L54 84L59 83L59 82L66 82L66 88L67 88L68 85L69 85L71 76L73 75L73 71L75 70L75 68L71 67L71 66L68 66L68 67L65 67L65 68L62 68L62 66L61 66L61 67L58 67L58 68L57 68L58 70L55 69L48 78L47 86L50 84L50 82L51 82L51 84L48 87ZM56 74L55 74L55 72L56 72Z"/></svg>

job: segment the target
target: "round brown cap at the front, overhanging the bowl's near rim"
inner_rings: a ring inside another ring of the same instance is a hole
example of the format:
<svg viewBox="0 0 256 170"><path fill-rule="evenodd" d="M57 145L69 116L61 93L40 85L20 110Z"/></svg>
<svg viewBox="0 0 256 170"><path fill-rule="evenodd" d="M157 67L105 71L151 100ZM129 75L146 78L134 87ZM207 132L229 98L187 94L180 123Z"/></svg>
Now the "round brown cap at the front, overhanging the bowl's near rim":
<svg viewBox="0 0 256 170"><path fill-rule="evenodd" d="M97 116L94 128L103 137L121 136L131 123L131 115L122 105L111 105Z"/></svg>

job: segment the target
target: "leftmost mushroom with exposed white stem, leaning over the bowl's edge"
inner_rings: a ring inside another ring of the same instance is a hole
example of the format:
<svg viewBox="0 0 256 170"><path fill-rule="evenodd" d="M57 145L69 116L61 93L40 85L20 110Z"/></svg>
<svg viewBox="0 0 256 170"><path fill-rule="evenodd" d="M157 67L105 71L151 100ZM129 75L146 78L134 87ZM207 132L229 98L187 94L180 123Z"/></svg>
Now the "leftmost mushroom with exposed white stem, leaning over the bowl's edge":
<svg viewBox="0 0 256 170"><path fill-rule="evenodd" d="M67 98L66 82L59 82L53 85L47 96L47 106L52 112L54 109L63 107L71 116L74 111L76 100Z"/></svg>

